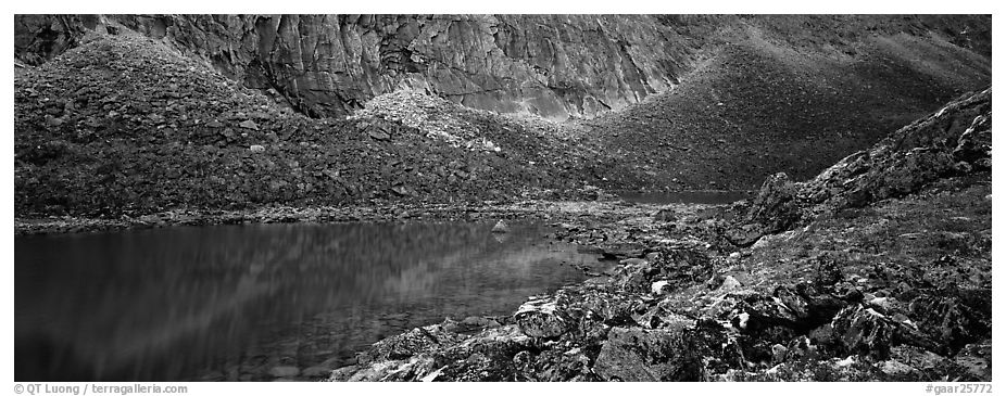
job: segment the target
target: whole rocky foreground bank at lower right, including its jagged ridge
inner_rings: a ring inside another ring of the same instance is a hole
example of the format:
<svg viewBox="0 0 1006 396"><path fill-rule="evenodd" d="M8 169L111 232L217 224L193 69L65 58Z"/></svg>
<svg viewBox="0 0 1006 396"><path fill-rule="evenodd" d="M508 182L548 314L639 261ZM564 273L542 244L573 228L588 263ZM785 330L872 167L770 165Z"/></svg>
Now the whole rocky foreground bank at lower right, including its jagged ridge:
<svg viewBox="0 0 1006 396"><path fill-rule="evenodd" d="M388 337L331 379L990 381L990 144L985 90L751 204L558 225L623 259L513 316ZM734 246L752 221L790 231Z"/></svg>

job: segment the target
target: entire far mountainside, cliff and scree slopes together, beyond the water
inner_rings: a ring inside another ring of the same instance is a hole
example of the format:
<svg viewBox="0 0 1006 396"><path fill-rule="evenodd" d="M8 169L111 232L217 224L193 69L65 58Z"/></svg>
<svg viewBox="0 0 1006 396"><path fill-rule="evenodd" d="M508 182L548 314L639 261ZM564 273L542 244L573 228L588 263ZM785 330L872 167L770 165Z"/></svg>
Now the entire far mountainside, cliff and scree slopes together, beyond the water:
<svg viewBox="0 0 1006 396"><path fill-rule="evenodd" d="M15 210L802 180L986 86L989 22L18 15Z"/></svg>

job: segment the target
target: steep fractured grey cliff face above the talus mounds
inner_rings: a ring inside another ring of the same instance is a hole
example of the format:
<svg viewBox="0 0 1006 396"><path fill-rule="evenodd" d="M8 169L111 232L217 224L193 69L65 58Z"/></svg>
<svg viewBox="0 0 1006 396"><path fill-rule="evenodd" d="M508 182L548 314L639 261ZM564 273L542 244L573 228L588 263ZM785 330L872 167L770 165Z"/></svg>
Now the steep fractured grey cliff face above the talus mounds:
<svg viewBox="0 0 1006 396"><path fill-rule="evenodd" d="M687 40L652 16L106 16L166 38L249 88L314 116L399 88L469 107L565 119L666 91Z"/></svg>

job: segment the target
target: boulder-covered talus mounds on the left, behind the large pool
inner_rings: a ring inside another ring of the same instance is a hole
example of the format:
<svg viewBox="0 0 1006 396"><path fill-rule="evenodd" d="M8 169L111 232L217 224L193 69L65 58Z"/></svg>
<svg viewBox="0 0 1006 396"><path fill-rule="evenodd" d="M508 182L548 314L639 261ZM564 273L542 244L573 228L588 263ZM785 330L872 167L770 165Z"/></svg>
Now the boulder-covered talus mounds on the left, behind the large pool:
<svg viewBox="0 0 1006 396"><path fill-rule="evenodd" d="M14 90L18 217L548 196L604 165L546 123L416 92L309 118L136 34L86 36Z"/></svg>

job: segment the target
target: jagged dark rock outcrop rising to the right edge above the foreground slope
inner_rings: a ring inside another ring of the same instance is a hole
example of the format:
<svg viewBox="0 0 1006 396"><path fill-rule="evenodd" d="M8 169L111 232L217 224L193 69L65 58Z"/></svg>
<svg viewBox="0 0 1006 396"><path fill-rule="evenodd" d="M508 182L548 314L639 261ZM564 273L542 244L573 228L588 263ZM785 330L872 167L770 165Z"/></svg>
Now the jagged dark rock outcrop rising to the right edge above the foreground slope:
<svg viewBox="0 0 1006 396"><path fill-rule="evenodd" d="M801 221L901 197L952 175L992 169L992 89L966 94L934 114L853 153L816 178L794 183L778 174L762 187L746 216L725 235L747 246Z"/></svg>

